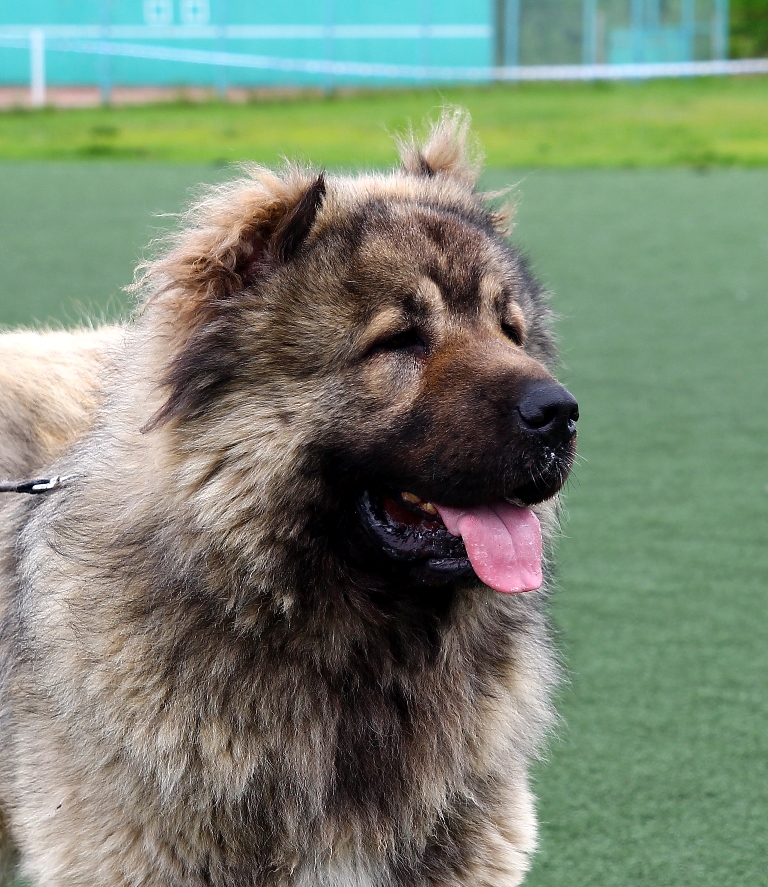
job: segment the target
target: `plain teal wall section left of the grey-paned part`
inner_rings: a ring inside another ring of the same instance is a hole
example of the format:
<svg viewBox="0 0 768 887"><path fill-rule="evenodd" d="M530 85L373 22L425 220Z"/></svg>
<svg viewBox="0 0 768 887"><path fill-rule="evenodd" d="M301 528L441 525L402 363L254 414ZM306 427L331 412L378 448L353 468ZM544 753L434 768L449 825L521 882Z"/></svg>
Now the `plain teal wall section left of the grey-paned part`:
<svg viewBox="0 0 768 887"><path fill-rule="evenodd" d="M45 26L49 84L98 83L108 76L113 84L215 85L221 71L197 64L113 57L105 72L103 59L63 52L56 48L57 40L84 36L66 26L89 25L94 26L88 35L92 38L103 27L101 33L123 42L174 48L338 62L485 66L492 62L492 19L493 0L0 0L0 82L29 79L28 49L8 48L7 39L2 45L13 26ZM148 25L154 34L144 31ZM222 25L228 26L225 38L219 33ZM293 26L294 32L243 36L238 32L243 26ZM297 26L304 30L295 33ZM350 26L369 30L350 32ZM410 26L410 31L382 37L375 34L376 26ZM427 34L435 29L431 36L424 36L425 27ZM226 79L232 85L256 86L312 84L327 77L229 68Z"/></svg>

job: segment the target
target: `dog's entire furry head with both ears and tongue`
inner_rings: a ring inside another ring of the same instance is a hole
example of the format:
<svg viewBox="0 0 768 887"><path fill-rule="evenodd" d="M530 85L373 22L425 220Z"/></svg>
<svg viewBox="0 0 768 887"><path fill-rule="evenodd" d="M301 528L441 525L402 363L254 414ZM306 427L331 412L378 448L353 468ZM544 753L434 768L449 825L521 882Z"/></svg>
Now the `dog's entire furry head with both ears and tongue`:
<svg viewBox="0 0 768 887"><path fill-rule="evenodd" d="M466 120L402 158L255 169L192 211L150 274L166 369L148 427L172 430L201 526L233 550L269 523L273 546L305 539L379 583L532 589L530 506L565 482L578 418L550 314L475 191Z"/></svg>

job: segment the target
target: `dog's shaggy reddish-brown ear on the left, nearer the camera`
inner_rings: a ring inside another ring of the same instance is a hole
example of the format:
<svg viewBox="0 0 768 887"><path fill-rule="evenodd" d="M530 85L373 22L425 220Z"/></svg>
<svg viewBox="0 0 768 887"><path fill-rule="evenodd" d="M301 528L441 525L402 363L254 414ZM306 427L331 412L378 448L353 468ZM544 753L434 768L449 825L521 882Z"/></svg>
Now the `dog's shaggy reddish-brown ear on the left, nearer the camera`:
<svg viewBox="0 0 768 887"><path fill-rule="evenodd" d="M249 179L211 189L166 254L145 266L138 285L149 290L144 310L161 315L159 372L169 395L144 430L200 415L228 384L238 361L232 319L258 302L260 280L295 259L325 190L322 173L254 168Z"/></svg>

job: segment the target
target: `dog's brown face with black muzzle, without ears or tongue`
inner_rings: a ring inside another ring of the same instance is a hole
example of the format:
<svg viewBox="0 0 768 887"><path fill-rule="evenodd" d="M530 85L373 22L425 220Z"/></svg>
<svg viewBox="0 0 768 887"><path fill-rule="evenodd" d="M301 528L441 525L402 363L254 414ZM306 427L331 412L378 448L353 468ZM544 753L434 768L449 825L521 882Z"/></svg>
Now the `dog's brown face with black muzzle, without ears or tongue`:
<svg viewBox="0 0 768 887"><path fill-rule="evenodd" d="M295 305L275 312L278 363L298 378L323 367L332 396L314 446L366 531L355 545L378 550L369 562L433 582L471 574L449 509L514 523L574 457L576 401L545 366L540 296L477 219L372 202L341 228L357 235L321 233L281 281L304 307L298 326Z"/></svg>

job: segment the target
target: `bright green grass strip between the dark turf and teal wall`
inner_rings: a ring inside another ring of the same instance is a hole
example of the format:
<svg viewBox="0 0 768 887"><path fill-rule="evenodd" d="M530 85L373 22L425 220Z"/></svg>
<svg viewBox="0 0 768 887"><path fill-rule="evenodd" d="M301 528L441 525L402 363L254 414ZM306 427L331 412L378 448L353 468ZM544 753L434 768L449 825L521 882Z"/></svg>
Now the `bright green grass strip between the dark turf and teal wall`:
<svg viewBox="0 0 768 887"><path fill-rule="evenodd" d="M496 167L768 165L768 77L16 111L0 114L0 159L386 164L387 131L444 102L470 109Z"/></svg>

